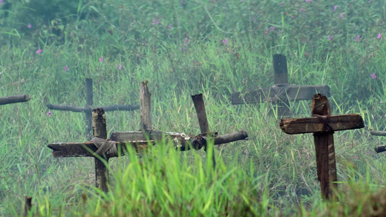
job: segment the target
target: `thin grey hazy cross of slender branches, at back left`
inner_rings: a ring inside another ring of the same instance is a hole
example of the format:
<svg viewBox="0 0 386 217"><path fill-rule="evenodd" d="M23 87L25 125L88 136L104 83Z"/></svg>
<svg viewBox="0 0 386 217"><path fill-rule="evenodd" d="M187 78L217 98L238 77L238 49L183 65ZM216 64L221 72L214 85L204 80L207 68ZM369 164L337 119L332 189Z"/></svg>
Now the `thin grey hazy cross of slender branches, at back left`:
<svg viewBox="0 0 386 217"><path fill-rule="evenodd" d="M91 110L93 105L93 80L86 78L86 105L85 107L76 107L71 105L52 105L47 104L47 108L51 110L70 111L70 112L84 112L86 114L86 134L91 131ZM110 105L110 106L98 106L96 108L103 108L105 112L108 111L132 111L138 109L137 105Z"/></svg>

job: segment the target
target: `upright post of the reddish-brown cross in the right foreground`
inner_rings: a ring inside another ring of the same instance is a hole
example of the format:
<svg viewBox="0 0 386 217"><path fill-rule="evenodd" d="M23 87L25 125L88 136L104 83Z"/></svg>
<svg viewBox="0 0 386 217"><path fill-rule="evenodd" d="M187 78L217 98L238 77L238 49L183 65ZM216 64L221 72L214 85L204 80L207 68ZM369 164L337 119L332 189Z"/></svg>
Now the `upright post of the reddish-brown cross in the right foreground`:
<svg viewBox="0 0 386 217"><path fill-rule="evenodd" d="M327 97L320 94L312 97L312 115L331 115ZM315 156L318 180L322 195L330 199L333 188L337 188L337 165L335 161L334 134L332 132L314 133Z"/></svg>

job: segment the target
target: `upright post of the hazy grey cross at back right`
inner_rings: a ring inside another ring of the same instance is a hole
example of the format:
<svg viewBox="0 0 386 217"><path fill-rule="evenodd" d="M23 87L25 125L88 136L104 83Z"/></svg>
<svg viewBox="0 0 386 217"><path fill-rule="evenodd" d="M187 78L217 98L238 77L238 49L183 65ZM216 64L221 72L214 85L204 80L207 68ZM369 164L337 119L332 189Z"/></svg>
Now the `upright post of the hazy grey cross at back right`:
<svg viewBox="0 0 386 217"><path fill-rule="evenodd" d="M274 71L274 83L276 86L282 87L288 85L288 69L287 58L283 54L274 54L272 57L273 71ZM285 93L284 93L285 94ZM288 108L287 101L279 101L278 106L278 118L289 117L291 111Z"/></svg>

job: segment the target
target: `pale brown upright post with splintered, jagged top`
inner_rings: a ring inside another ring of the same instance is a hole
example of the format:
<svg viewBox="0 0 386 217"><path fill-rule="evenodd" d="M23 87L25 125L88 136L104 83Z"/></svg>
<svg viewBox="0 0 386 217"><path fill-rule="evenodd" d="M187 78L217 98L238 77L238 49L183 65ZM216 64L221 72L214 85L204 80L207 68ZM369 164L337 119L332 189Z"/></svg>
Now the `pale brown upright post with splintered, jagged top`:
<svg viewBox="0 0 386 217"><path fill-rule="evenodd" d="M151 93L147 88L148 81L142 81L139 91L139 112L141 114L141 130L151 129Z"/></svg>

